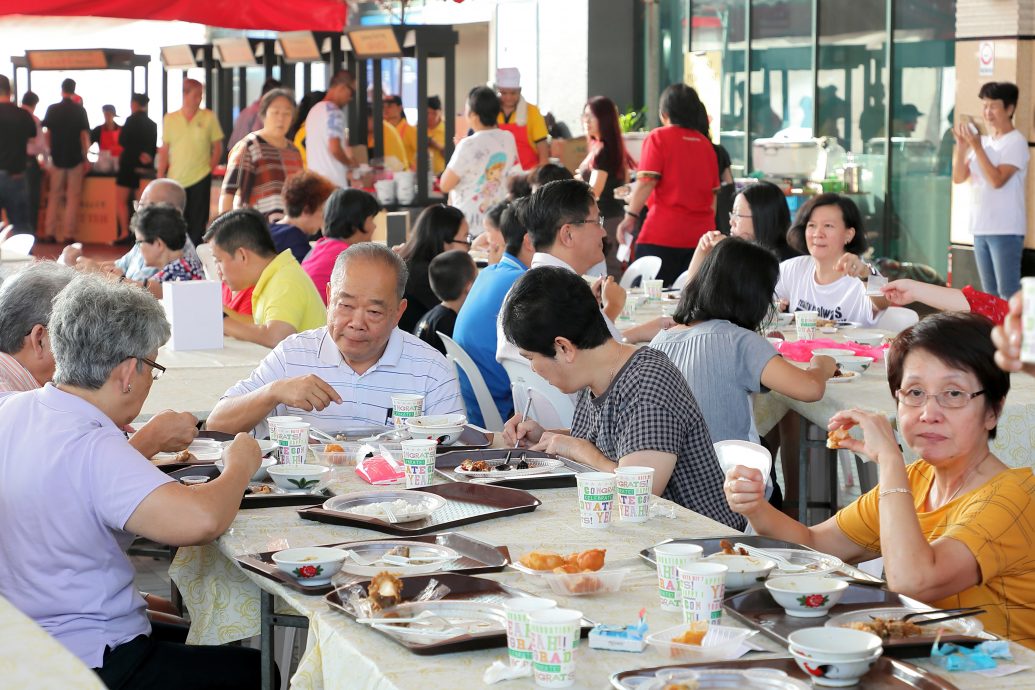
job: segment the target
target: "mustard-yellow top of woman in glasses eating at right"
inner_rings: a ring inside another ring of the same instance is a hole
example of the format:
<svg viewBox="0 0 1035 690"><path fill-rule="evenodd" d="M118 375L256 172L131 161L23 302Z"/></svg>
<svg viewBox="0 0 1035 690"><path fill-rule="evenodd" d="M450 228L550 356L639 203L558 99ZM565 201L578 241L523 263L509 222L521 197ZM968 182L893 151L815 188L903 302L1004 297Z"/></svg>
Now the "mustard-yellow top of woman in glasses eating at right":
<svg viewBox="0 0 1035 690"><path fill-rule="evenodd" d="M922 512L935 469L917 460L906 468L920 531L928 542L955 539L974 554L981 579L959 594L924 603L938 608L975 606L985 630L1035 649L1035 476L1031 468L1002 472L983 486ZM859 546L881 552L878 486L841 509L837 527ZM900 501L901 499L893 499Z"/></svg>

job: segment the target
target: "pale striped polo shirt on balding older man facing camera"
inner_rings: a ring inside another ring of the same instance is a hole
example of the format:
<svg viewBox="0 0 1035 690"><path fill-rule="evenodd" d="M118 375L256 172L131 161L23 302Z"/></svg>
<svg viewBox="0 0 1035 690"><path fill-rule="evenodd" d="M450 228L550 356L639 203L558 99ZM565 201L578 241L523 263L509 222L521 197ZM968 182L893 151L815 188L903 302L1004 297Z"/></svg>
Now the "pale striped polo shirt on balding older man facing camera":
<svg viewBox="0 0 1035 690"><path fill-rule="evenodd" d="M381 359L363 373L356 373L345 362L326 327L290 335L259 363L250 377L238 382L223 397L243 395L273 381L307 373L330 384L342 396L342 403L332 402L321 412L278 404L269 416L295 415L327 432L385 426L391 420L393 393L423 394L425 415L464 412L452 365L435 348L397 328L388 338ZM265 422L256 427L257 434L265 431Z"/></svg>

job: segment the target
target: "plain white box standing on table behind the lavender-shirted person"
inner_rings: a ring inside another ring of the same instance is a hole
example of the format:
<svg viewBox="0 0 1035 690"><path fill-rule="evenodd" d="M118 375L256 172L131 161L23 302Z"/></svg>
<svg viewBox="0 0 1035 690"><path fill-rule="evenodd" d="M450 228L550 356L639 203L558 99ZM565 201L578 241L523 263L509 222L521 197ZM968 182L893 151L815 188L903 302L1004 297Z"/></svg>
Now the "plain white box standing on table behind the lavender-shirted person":
<svg viewBox="0 0 1035 690"><path fill-rule="evenodd" d="M161 284L162 305L173 327L171 350L223 349L223 293L215 280L171 280Z"/></svg>

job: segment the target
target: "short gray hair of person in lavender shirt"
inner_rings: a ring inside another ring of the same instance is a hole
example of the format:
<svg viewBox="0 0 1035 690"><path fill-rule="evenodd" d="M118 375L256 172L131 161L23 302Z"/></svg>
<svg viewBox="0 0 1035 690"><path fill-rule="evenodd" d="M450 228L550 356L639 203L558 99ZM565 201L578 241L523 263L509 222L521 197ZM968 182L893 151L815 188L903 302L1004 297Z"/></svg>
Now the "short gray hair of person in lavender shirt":
<svg viewBox="0 0 1035 690"><path fill-rule="evenodd" d="M97 390L116 366L129 357L146 357L170 332L166 311L150 293L80 275L54 300L54 383Z"/></svg>

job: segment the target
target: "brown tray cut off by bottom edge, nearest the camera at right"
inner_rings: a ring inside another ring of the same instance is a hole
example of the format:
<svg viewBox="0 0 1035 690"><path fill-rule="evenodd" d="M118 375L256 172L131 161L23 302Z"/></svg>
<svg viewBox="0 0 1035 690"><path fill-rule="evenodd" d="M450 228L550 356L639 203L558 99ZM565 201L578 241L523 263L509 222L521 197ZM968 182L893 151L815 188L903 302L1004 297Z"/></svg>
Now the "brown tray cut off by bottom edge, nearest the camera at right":
<svg viewBox="0 0 1035 690"><path fill-rule="evenodd" d="M809 676L798 668L798 664L795 663L794 659L787 658L673 664L670 666L640 668L613 674L611 677L611 685L618 688L618 690L629 690L635 687L638 683L643 682L643 679L654 678L654 674L663 668L776 668L799 681L806 683L810 681ZM929 670L911 664L908 661L889 659L888 657L878 659L869 671L859 680L859 684L852 687L858 688L858 690L905 690L906 688L916 688L917 690L958 690L956 686L941 676L931 673Z"/></svg>

